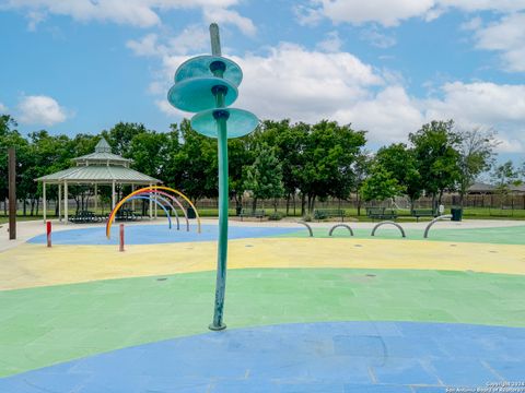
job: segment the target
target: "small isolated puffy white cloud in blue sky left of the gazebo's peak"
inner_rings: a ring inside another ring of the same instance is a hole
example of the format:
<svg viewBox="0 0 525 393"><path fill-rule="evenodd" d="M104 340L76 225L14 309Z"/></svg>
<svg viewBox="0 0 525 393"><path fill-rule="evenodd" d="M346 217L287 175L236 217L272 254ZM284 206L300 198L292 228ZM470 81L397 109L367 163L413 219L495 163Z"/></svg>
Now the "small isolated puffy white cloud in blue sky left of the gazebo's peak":
<svg viewBox="0 0 525 393"><path fill-rule="evenodd" d="M19 106L19 119L25 124L54 126L68 118L63 107L48 96L24 96Z"/></svg>

